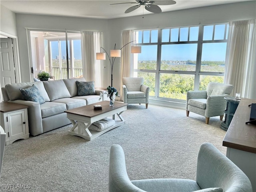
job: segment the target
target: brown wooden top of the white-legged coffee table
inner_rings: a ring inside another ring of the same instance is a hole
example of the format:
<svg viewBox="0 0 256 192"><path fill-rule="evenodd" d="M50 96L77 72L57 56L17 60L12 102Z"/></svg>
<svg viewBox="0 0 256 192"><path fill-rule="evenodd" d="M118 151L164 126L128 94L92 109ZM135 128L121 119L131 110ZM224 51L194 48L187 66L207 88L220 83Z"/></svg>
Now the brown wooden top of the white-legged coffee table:
<svg viewBox="0 0 256 192"><path fill-rule="evenodd" d="M69 114L75 114L75 115L86 116L86 117L92 118L94 116L97 116L97 115L106 113L108 111L128 105L126 103L115 102L114 106L109 106L109 103L110 103L109 101L102 101L102 102L66 110L65 112L69 113ZM94 110L94 105L101 105L102 110Z"/></svg>

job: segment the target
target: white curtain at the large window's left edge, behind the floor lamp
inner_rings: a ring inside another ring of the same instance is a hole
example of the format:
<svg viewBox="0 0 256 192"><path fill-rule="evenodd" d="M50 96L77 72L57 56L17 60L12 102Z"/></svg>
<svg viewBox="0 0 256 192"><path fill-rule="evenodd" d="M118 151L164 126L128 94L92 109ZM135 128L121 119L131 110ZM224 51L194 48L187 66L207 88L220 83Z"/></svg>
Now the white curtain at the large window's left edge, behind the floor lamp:
<svg viewBox="0 0 256 192"><path fill-rule="evenodd" d="M134 40L133 30L123 30L121 34L122 38L122 46ZM121 68L120 68L120 98L123 100L123 77L130 77L133 74L133 68L131 67L132 54L131 54L131 46L133 43L130 43L124 48L122 48L121 52Z"/></svg>

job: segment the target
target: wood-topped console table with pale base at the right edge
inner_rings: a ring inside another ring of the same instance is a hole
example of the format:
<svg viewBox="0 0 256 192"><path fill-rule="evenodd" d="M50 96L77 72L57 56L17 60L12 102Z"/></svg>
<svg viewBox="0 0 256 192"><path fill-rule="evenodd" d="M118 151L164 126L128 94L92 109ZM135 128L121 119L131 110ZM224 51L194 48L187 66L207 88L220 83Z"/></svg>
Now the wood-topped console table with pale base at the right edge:
<svg viewBox="0 0 256 192"><path fill-rule="evenodd" d="M256 191L256 125L245 124L250 120L251 107L256 100L242 98L224 137L226 156L250 179Z"/></svg>

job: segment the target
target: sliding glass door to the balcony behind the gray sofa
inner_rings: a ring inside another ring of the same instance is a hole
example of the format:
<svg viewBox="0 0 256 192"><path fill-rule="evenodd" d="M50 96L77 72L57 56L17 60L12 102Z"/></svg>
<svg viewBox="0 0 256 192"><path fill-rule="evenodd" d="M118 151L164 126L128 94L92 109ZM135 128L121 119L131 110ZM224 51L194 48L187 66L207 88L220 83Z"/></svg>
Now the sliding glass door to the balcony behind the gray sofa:
<svg viewBox="0 0 256 192"><path fill-rule="evenodd" d="M30 50L34 77L40 70L50 72L54 80L82 76L80 32L30 31ZM68 66L68 68L67 68Z"/></svg>

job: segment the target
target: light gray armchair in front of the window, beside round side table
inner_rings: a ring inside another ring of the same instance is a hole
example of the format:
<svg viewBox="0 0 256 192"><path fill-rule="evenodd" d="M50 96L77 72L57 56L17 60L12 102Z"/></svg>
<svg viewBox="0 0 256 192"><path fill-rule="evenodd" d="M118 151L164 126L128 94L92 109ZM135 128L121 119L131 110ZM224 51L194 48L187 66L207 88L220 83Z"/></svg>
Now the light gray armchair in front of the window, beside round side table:
<svg viewBox="0 0 256 192"><path fill-rule="evenodd" d="M188 91L186 102L186 115L189 112L205 116L206 124L209 124L210 117L220 116L222 120L226 108L224 97L229 96L233 85L210 82L206 91Z"/></svg>

